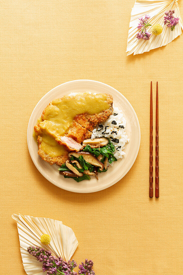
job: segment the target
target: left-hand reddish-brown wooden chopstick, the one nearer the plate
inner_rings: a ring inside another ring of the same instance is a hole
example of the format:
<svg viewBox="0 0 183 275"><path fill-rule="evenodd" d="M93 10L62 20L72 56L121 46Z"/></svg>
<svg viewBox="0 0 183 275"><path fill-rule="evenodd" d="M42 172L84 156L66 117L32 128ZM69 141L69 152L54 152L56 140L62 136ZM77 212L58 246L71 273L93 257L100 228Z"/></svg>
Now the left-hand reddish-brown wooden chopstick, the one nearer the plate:
<svg viewBox="0 0 183 275"><path fill-rule="evenodd" d="M153 197L153 89L150 97L149 197Z"/></svg>

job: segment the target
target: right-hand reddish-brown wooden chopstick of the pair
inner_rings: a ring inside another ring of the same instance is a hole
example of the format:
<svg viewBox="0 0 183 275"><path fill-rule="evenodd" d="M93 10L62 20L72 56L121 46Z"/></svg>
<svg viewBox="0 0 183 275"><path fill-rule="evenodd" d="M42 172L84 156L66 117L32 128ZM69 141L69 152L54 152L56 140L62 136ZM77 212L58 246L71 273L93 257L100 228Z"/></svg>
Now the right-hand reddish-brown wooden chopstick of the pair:
<svg viewBox="0 0 183 275"><path fill-rule="evenodd" d="M155 197L159 198L159 121L158 121L158 82L156 84L156 188Z"/></svg>

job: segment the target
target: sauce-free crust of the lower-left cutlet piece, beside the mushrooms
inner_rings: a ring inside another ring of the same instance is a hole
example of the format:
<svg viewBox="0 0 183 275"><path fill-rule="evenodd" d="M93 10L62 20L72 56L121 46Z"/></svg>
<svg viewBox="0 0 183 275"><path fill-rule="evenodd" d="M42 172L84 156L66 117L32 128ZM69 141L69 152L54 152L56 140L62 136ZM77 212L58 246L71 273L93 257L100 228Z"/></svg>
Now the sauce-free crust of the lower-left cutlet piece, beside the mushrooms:
<svg viewBox="0 0 183 275"><path fill-rule="evenodd" d="M65 163L66 160L69 159L68 157L68 152L65 151L63 153L60 154L60 156L58 154L56 154L56 156L50 156L48 155L43 149L44 149L44 142L41 136L37 137L37 142L38 142L38 155L40 155L40 157L42 158L42 160L48 162L49 164L54 164L56 163L57 165L61 166L63 163ZM56 141L55 141L56 142ZM56 147L61 147L61 145L59 145L57 142L55 144ZM55 147L53 147L53 152L54 152Z"/></svg>

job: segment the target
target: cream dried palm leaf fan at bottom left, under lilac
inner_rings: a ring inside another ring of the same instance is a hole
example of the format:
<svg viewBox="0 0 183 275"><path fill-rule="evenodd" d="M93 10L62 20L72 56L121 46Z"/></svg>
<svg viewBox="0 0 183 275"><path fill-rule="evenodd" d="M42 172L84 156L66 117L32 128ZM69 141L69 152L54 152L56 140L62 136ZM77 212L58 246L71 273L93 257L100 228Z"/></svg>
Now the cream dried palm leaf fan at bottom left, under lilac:
<svg viewBox="0 0 183 275"><path fill-rule="evenodd" d="M39 246L45 250L50 250L52 255L60 256L64 261L71 259L78 241L73 230L56 221L47 218L34 218L31 216L12 215L16 220L20 239L20 251L23 260L24 270L28 275L43 274L43 263L37 261L27 251L29 246ZM48 234L51 241L48 245L41 243L41 236Z"/></svg>

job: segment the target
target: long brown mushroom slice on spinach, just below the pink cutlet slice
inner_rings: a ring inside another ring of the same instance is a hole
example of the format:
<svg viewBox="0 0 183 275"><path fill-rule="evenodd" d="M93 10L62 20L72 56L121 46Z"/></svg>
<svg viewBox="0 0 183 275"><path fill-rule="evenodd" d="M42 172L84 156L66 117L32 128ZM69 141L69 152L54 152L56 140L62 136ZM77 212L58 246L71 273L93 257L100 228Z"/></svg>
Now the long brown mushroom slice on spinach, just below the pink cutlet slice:
<svg viewBox="0 0 183 275"><path fill-rule="evenodd" d="M89 152L69 152L68 156L69 156L69 158L71 156L74 156L76 158L79 158L79 156L82 156L86 162L90 163L93 166L99 167L100 171L102 171L104 169L104 164L101 161L99 161L92 153L89 153Z"/></svg>

